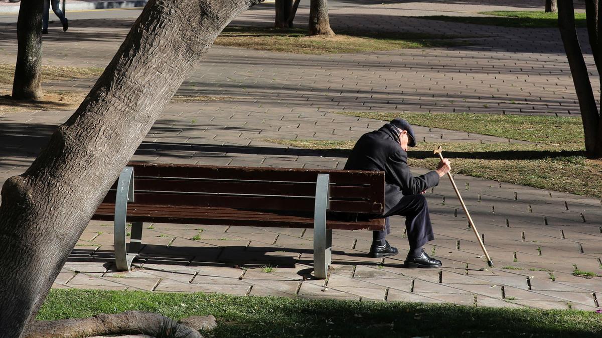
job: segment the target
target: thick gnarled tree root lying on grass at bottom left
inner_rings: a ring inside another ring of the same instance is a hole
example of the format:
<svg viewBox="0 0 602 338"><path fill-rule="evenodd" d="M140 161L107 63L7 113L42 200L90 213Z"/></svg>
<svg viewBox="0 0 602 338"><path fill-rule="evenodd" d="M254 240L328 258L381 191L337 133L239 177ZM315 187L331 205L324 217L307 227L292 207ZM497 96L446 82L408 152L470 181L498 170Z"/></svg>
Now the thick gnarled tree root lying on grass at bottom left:
<svg viewBox="0 0 602 338"><path fill-rule="evenodd" d="M157 313L128 311L92 318L37 321L27 330L26 338L68 338L108 334L146 334L151 337L202 338L198 328L179 324Z"/></svg>

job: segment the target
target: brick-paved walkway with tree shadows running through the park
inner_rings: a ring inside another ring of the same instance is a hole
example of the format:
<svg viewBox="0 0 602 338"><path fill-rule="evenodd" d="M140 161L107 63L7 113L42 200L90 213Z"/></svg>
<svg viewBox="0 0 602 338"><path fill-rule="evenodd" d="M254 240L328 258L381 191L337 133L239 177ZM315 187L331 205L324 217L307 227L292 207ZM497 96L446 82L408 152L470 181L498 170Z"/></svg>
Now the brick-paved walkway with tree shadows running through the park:
<svg viewBox="0 0 602 338"><path fill-rule="evenodd" d="M436 13L478 12L480 1L436 2ZM474 3L474 4L473 4ZM501 5L527 2L501 1ZM462 7L458 7L458 6ZM476 45L448 49L294 55L214 46L178 94L225 101L173 102L134 159L216 165L342 168L344 153L287 149L265 138L356 139L382 122L336 111L470 111L490 114L579 114L566 58L555 29L509 29L407 17L432 12L426 1L335 7L335 31L361 22L390 29L473 37ZM527 6L527 5L524 5ZM535 6L535 5L533 5ZM272 21L257 7L237 23ZM298 14L304 21L307 13ZM358 16L364 16L358 19ZM355 18L350 20L350 18ZM132 19L75 20L69 34L45 37L45 63L104 67ZM102 27L102 30L99 29ZM0 63L14 62L14 28L0 31ZM583 33L583 32L581 32ZM583 34L582 34L583 35ZM68 52L66 52L68 51ZM588 56L588 61L591 57ZM592 68L595 72L595 69ZM87 91L93 81L53 82L46 88ZM598 88L596 82L593 83ZM598 89L597 89L598 90ZM22 173L70 111L0 117L0 182ZM507 142L506 139L417 128L429 140ZM416 168L415 173L425 170ZM92 222L55 287L226 292L380 301L450 302L476 306L595 310L602 272L602 204L595 198L456 176L496 268L482 253L442 180L427 198L436 239L426 250L441 269L404 269L403 254L365 257L369 232L335 231L334 270L312 280L311 231L145 224L144 247L132 272L115 272L111 224ZM198 240L192 240L198 235ZM405 251L403 219L389 242ZM264 272L262 266L272 266ZM509 267L512 266L512 269ZM504 268L505 267L505 268Z"/></svg>

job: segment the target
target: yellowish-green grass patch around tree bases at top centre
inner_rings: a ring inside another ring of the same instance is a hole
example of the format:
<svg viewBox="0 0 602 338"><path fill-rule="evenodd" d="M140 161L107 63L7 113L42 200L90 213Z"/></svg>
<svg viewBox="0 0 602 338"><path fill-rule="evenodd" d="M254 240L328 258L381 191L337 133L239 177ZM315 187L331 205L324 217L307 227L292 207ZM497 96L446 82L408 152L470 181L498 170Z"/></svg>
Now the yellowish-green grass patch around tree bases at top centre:
<svg viewBox="0 0 602 338"><path fill-rule="evenodd" d="M334 37L308 37L307 29L228 26L216 45L299 54L358 53L407 48L468 45L452 35L413 32L337 32Z"/></svg>

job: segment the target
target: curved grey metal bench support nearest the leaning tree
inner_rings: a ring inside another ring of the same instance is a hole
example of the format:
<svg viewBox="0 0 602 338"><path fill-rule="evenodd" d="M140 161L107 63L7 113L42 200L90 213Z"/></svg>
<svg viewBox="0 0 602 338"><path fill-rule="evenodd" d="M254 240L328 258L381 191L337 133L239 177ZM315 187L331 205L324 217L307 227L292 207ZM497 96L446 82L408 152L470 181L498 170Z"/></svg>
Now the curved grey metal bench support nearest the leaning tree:
<svg viewBox="0 0 602 338"><path fill-rule="evenodd" d="M128 201L134 200L134 168L125 167L117 182L115 197L114 246L117 271L129 271L129 266L137 254L128 254L125 246L125 221L128 214Z"/></svg>

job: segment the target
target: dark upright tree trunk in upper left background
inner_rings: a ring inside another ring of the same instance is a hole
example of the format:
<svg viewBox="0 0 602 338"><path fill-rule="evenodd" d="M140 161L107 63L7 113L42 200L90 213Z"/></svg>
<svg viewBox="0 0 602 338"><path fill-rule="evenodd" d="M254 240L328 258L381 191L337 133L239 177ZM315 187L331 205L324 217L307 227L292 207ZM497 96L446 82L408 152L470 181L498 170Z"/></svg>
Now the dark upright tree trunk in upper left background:
<svg viewBox="0 0 602 338"><path fill-rule="evenodd" d="M42 0L23 0L17 19L17 64L14 69L13 99L43 99Z"/></svg>

